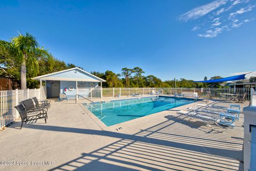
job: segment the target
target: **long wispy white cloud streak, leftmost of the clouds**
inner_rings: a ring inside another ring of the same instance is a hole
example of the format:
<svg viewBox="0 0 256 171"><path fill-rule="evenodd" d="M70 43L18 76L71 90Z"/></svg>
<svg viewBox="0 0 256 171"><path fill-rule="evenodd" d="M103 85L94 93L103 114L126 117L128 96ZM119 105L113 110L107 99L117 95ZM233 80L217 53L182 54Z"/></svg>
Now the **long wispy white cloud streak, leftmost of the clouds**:
<svg viewBox="0 0 256 171"><path fill-rule="evenodd" d="M180 15L179 19L185 20L185 21L188 21L191 19L198 19L212 12L213 10L218 9L218 7L225 5L227 2L228 0L215 0L209 4L198 6L195 9Z"/></svg>

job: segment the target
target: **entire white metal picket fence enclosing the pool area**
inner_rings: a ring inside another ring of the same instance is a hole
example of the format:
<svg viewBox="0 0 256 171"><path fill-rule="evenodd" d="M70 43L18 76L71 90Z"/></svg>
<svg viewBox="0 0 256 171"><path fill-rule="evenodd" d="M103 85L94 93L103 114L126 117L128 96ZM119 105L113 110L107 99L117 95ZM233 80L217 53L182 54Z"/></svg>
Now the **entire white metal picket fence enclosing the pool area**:
<svg viewBox="0 0 256 171"><path fill-rule="evenodd" d="M154 90L154 91L153 91ZM245 100L251 99L251 92L253 88L78 88L77 94L82 95L88 99L101 97L116 97L116 96L131 96L133 94L150 94L152 92L159 92L161 94L173 95L175 93L196 92L198 96L202 96L209 91L212 98L221 98L221 93L240 94L247 92ZM19 118L15 106L22 100L29 99L36 96L38 99L46 98L46 87L40 89L26 89L26 90L12 90L0 91L0 129L10 124L13 120ZM69 99L75 99L76 95L70 96ZM227 97L227 98L231 98ZM82 97L78 96L78 99Z"/></svg>

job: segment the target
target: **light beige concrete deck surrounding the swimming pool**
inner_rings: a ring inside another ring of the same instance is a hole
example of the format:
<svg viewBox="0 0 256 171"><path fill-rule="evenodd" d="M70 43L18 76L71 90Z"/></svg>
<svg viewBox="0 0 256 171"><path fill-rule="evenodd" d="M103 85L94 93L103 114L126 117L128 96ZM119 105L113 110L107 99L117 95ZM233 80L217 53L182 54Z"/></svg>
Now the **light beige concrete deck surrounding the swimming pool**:
<svg viewBox="0 0 256 171"><path fill-rule="evenodd" d="M178 117L201 101L106 127L78 102L52 100L47 124L39 119L20 130L17 121L0 132L1 161L15 162L0 170L243 170L243 114L234 129L219 132Z"/></svg>

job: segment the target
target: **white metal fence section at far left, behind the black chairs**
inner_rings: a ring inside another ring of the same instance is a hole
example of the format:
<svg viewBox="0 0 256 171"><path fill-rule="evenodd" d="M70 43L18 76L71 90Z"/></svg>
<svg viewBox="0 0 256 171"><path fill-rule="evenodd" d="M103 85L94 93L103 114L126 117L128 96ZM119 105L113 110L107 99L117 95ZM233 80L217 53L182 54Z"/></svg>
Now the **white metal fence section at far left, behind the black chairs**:
<svg viewBox="0 0 256 171"><path fill-rule="evenodd" d="M11 91L0 91L0 130L13 120L19 118L18 111L14 108L22 100L31 97L40 99L40 89L16 89Z"/></svg>

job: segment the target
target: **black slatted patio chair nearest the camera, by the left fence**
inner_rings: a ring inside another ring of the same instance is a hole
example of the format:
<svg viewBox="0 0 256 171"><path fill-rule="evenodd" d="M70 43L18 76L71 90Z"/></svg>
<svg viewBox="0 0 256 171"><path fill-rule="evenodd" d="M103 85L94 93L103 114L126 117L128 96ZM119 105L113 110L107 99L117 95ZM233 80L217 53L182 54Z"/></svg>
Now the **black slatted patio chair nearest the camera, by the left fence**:
<svg viewBox="0 0 256 171"><path fill-rule="evenodd" d="M44 118L44 121L46 124L47 111L45 111L44 109L27 110L25 107L23 107L22 104L17 105L15 108L18 110L21 117L20 129L22 128L23 123L27 123L27 121L30 121L30 120L37 120L37 119Z"/></svg>

